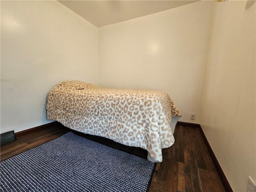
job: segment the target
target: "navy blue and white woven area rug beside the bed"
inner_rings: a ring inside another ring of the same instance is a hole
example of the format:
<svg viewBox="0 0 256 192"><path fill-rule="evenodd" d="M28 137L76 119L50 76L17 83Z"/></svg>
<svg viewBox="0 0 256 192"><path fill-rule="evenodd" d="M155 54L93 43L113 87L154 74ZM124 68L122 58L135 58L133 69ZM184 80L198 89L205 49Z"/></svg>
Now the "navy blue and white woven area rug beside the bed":
<svg viewBox="0 0 256 192"><path fill-rule="evenodd" d="M5 192L146 192L154 163L68 132L0 163Z"/></svg>

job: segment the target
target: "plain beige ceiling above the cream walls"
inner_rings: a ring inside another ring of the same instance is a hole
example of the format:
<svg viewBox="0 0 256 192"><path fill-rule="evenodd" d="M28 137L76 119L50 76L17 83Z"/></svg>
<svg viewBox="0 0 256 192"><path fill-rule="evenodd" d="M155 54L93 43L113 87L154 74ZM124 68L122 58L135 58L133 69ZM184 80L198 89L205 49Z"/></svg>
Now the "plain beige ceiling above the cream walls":
<svg viewBox="0 0 256 192"><path fill-rule="evenodd" d="M198 0L58 0L97 27L172 9Z"/></svg>

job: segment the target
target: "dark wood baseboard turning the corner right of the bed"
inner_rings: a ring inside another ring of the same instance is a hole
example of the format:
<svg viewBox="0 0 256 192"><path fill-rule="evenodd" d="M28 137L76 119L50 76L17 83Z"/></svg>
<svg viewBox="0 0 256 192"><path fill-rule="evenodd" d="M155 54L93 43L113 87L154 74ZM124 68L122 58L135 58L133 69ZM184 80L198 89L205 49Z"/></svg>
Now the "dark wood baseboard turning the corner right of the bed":
<svg viewBox="0 0 256 192"><path fill-rule="evenodd" d="M207 150L210 154L210 157L212 158L212 162L213 162L213 164L216 168L216 171L217 171L217 173L220 177L220 180L222 182L222 185L223 185L224 189L226 190L226 192L233 192L233 190L232 190L232 188L231 188L231 186L230 186L222 168L220 167L220 164L219 164L219 162L218 162L218 160L217 160L217 158L216 158L216 156L215 156L215 154L214 154L214 152L213 152L213 150L212 150L212 148L211 148L211 146L210 146L210 144L209 144L209 142L208 142L208 140L207 140L207 138L204 134L204 131L203 131L201 125L200 124L194 124L194 123L180 122L180 121L178 121L177 124L182 125L182 126L189 126L189 127L199 128L200 133L203 137L204 143L206 145L206 148L207 148Z"/></svg>

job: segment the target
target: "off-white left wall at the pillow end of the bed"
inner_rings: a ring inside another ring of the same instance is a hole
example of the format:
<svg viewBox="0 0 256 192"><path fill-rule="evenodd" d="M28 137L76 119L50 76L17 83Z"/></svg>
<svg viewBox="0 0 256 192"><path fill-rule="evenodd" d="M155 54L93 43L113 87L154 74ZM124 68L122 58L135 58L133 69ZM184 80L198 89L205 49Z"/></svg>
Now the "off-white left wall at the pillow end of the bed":
<svg viewBox="0 0 256 192"><path fill-rule="evenodd" d="M1 1L1 133L51 122L64 80L98 84L98 28L57 1Z"/></svg>

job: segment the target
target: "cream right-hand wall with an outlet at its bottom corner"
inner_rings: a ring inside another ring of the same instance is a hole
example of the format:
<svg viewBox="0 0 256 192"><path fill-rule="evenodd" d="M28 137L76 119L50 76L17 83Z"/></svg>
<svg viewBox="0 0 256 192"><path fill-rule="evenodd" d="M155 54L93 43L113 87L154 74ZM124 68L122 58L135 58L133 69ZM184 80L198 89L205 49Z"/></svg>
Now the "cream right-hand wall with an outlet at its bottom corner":
<svg viewBox="0 0 256 192"><path fill-rule="evenodd" d="M216 3L200 124L234 192L256 180L255 1Z"/></svg>

